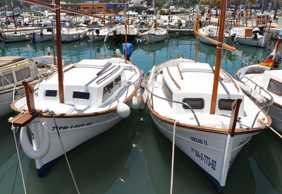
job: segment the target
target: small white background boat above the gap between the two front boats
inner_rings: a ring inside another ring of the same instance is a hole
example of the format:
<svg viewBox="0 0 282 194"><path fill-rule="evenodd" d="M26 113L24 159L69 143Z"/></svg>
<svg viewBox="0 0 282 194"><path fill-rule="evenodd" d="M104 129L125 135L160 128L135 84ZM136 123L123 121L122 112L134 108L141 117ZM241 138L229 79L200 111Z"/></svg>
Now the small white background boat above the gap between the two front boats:
<svg viewBox="0 0 282 194"><path fill-rule="evenodd" d="M161 42L165 40L166 37L168 37L168 31L164 28L152 28L146 32L140 33L139 36L143 42L154 44L155 42Z"/></svg>

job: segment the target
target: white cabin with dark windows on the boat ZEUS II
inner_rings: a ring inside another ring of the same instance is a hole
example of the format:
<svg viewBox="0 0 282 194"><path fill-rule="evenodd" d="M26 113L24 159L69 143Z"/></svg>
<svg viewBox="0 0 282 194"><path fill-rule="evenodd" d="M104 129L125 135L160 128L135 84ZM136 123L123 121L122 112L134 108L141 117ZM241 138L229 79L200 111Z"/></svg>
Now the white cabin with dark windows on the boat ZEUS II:
<svg viewBox="0 0 282 194"><path fill-rule="evenodd" d="M157 76L157 82L161 83L166 99L185 102L196 113L209 114L213 87L210 80L214 78L214 70L208 63L183 62L178 66L164 68L162 74ZM244 95L227 75L221 72L220 76L223 80L219 81L216 114L230 114L232 102L239 98L244 101ZM169 104L175 114L190 113L190 109L183 104L164 103ZM243 115L244 103L239 111L239 116Z"/></svg>

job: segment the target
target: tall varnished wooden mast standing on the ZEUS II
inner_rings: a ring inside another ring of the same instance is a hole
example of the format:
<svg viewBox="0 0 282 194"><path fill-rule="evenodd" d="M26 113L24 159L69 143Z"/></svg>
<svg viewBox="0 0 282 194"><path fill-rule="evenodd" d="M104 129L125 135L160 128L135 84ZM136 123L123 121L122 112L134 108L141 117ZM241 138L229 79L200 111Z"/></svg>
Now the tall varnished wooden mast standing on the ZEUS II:
<svg viewBox="0 0 282 194"><path fill-rule="evenodd" d="M210 114L214 114L216 110L216 99L217 99L217 90L219 88L219 72L221 68L221 54L223 49L223 36L225 29L225 16L226 16L226 0L221 1L221 18L219 24L219 42L217 43L216 50L216 67L214 70L214 86L212 88L212 103Z"/></svg>

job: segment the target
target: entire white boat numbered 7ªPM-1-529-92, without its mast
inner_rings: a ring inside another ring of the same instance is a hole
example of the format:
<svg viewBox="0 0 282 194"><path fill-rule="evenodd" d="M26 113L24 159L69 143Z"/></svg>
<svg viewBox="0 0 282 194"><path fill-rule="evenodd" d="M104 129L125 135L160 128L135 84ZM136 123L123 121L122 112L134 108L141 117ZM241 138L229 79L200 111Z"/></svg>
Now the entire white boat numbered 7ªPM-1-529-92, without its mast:
<svg viewBox="0 0 282 194"><path fill-rule="evenodd" d="M18 113L29 107L42 110L39 118L20 131L20 143L25 154L35 159L39 176L63 155L60 140L68 152L128 116L130 108L126 104L136 99L141 83L140 69L130 61L85 59L63 68L64 101L60 103L57 74L42 80L34 94L26 90L25 97L11 104ZM33 106L27 99L34 100ZM32 146L26 128L34 134Z"/></svg>

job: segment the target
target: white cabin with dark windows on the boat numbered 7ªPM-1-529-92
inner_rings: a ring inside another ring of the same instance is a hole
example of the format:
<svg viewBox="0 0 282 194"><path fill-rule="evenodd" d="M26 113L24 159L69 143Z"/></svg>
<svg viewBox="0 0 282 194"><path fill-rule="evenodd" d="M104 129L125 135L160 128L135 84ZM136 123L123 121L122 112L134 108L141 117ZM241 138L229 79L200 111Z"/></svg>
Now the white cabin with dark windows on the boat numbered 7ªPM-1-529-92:
<svg viewBox="0 0 282 194"><path fill-rule="evenodd" d="M125 70L130 70L125 78ZM103 108L111 104L119 90L133 81L133 66L126 63L106 60L84 59L65 68L63 73L63 90L65 104L73 109ZM123 95L121 92L120 95ZM38 102L59 104L58 77L52 75L39 85ZM73 105L75 104L75 106ZM42 106L42 107L41 107ZM62 105L63 106L63 105ZM65 105L66 106L66 105ZM41 109L47 108L40 105ZM38 107L38 108L39 108ZM54 107L54 106L51 106ZM61 111L65 111L62 109Z"/></svg>

